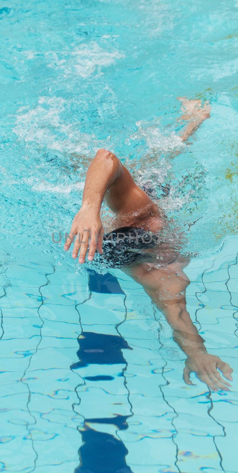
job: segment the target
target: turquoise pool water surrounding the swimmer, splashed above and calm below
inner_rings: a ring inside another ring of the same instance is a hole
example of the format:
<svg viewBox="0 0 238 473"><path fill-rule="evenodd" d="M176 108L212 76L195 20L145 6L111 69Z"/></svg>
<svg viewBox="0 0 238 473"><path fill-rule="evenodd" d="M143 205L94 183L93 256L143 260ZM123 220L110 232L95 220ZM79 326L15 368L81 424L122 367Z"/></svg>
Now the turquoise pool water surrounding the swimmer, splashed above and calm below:
<svg viewBox="0 0 238 473"><path fill-rule="evenodd" d="M237 7L0 2L0 471L238 472ZM178 96L212 110L183 146ZM230 392L185 385L144 290L119 270L88 280L52 241L101 147L187 232L187 309Z"/></svg>

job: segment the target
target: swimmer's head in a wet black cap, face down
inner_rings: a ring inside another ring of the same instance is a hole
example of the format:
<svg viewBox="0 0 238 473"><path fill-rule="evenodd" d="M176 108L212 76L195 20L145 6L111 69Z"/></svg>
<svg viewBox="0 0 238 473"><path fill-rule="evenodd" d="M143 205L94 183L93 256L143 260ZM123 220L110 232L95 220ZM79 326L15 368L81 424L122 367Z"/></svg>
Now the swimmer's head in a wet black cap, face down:
<svg viewBox="0 0 238 473"><path fill-rule="evenodd" d="M146 250L158 244L158 236L142 228L121 227L104 235L103 254L95 254L96 263L122 268L148 258Z"/></svg>

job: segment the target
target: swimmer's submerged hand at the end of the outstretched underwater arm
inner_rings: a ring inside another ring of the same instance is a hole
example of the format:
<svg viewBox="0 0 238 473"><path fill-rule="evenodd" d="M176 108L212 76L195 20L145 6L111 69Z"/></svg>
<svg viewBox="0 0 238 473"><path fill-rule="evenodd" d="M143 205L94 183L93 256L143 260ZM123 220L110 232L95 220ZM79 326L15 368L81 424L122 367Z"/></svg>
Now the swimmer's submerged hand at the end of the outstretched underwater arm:
<svg viewBox="0 0 238 473"><path fill-rule="evenodd" d="M210 355L207 352L196 352L196 354L188 355L185 361L185 368L183 372L183 380L188 385L193 385L190 381L190 373L195 373L196 377L205 383L211 391L229 391L231 385L225 381L223 377L232 381L231 373L233 369L228 363L224 363L218 356ZM229 386L229 387L228 387Z"/></svg>

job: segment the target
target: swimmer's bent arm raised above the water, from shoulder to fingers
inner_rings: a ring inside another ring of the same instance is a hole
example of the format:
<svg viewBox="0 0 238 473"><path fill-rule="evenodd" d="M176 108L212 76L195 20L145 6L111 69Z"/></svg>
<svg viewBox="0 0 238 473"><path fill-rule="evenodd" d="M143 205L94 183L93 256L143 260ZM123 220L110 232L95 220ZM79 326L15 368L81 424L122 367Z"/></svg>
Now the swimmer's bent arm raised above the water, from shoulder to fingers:
<svg viewBox="0 0 238 473"><path fill-rule="evenodd" d="M96 248L102 254L103 227L100 210L104 196L109 207L118 215L136 212L148 205L154 207L151 199L135 184L119 159L110 151L99 149L88 168L82 207L73 220L65 243L67 251L76 236L72 257L77 257L80 248L79 263L85 262L88 245L89 261L93 260Z"/></svg>

